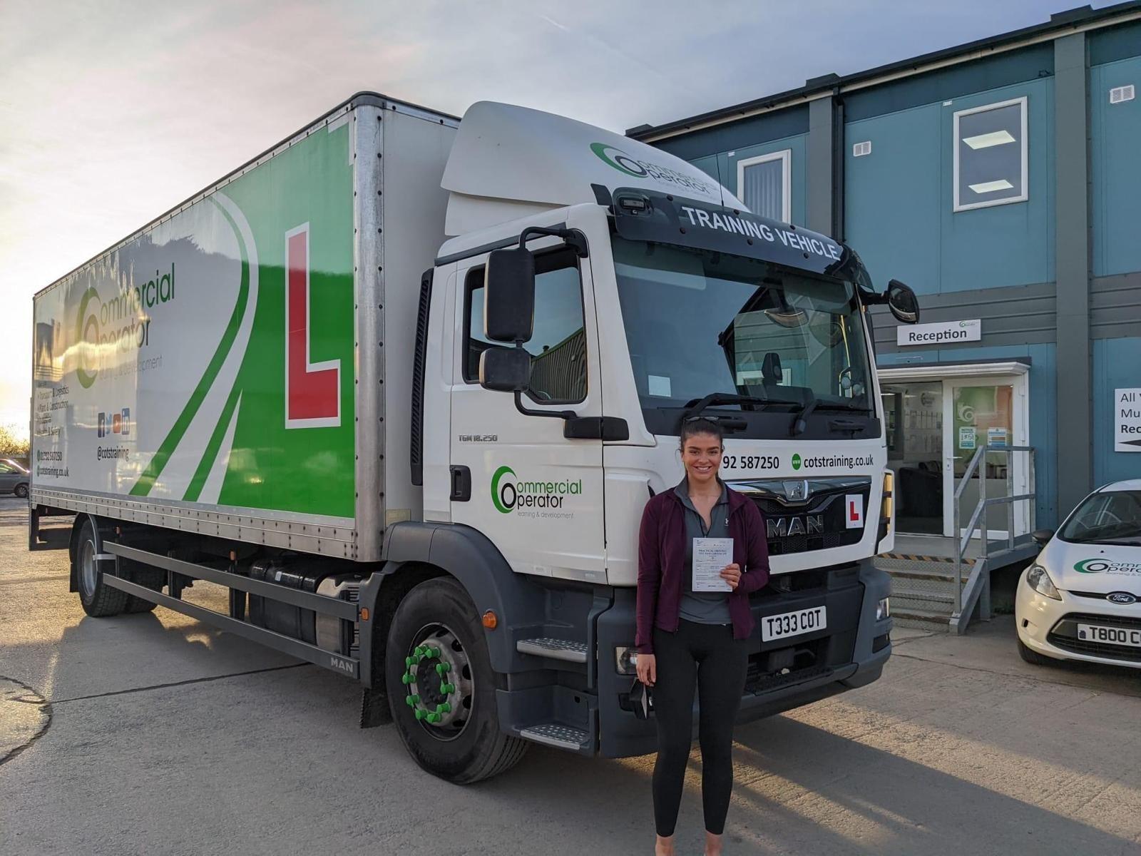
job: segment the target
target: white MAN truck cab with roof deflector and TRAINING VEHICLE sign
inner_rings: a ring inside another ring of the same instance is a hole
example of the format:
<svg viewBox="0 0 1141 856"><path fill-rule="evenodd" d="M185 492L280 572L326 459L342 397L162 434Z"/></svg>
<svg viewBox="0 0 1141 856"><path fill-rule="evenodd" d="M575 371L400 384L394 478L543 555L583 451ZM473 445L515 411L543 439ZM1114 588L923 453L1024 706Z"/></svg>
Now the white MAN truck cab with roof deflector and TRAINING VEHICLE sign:
<svg viewBox="0 0 1141 856"><path fill-rule="evenodd" d="M654 746L629 701L637 540L646 501L683 477L682 420L721 423L721 477L767 522L743 720L879 677L889 582L871 558L893 526L866 315L888 297L851 249L615 137L469 110L444 175L463 235L421 297L413 437L423 520L480 533L545 592L539 625L505 630L548 686L502 691L503 727L625 756Z"/></svg>

